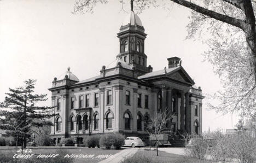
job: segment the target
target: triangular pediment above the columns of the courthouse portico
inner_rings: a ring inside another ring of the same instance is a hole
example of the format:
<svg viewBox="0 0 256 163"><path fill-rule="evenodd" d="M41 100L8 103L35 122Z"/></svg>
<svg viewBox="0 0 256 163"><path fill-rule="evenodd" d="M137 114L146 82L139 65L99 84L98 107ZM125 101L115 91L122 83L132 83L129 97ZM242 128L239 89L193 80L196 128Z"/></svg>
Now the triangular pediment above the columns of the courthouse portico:
<svg viewBox="0 0 256 163"><path fill-rule="evenodd" d="M194 81L193 79L191 79L188 75L187 72L185 72L185 70L183 68L178 69L177 71L173 71L167 74L167 77L174 79L174 80L178 80L178 81L182 81L184 83L190 83L192 85L194 85Z"/></svg>

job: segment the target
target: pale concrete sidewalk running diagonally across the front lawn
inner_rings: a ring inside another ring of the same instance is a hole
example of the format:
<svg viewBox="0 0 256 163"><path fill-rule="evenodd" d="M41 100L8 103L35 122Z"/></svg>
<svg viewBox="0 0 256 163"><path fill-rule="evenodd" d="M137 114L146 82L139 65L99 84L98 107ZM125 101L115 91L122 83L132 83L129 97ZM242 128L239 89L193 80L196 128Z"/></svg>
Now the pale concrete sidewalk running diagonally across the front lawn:
<svg viewBox="0 0 256 163"><path fill-rule="evenodd" d="M125 158L132 156L138 151L139 148L126 148L124 150L121 150L121 152L114 154L113 156L107 158L106 160L102 160L99 163L118 163L121 161L124 161Z"/></svg>

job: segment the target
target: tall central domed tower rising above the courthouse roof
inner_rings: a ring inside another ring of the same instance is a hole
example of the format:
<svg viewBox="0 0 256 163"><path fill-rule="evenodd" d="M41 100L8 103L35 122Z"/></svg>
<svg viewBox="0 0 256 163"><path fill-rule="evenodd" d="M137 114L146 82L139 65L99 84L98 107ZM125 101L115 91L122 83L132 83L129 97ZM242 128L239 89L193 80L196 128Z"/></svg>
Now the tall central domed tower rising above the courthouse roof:
<svg viewBox="0 0 256 163"><path fill-rule="evenodd" d="M131 13L124 19L118 33L120 52L117 57L133 67L138 75L149 72L147 55L144 53L144 41L147 37L144 31L141 19L133 11L133 1L131 1Z"/></svg>

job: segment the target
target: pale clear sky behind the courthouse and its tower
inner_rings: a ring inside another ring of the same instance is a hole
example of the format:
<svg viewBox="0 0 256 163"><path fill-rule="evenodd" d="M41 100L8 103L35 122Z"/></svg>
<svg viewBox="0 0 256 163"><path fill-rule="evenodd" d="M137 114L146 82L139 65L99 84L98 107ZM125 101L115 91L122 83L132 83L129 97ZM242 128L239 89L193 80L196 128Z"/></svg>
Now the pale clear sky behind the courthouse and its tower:
<svg viewBox="0 0 256 163"><path fill-rule="evenodd" d="M129 10L128 4L124 5ZM48 94L54 77L71 67L79 80L100 74L119 53L117 33L127 15L121 4L111 1L97 5L94 14L73 15L71 0L2 0L0 1L0 101L8 88L22 85L24 80L37 79L36 92ZM222 89L213 67L203 62L207 45L200 40L186 40L190 10L174 5L171 10L150 8L139 14L145 32L145 53L153 71L168 66L167 58L177 56L182 66L201 86L203 94ZM231 129L235 115L216 114L203 100L202 129Z"/></svg>

